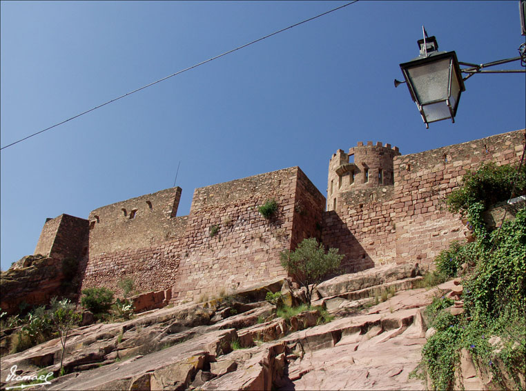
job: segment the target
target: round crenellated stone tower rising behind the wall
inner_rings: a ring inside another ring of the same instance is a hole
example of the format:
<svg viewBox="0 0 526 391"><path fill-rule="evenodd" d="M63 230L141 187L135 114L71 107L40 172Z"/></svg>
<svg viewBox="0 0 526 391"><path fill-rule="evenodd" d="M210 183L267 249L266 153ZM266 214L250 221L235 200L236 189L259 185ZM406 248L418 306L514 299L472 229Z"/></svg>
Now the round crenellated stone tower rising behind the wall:
<svg viewBox="0 0 526 391"><path fill-rule="evenodd" d="M393 159L398 155L398 147L382 146L380 141L376 145L367 141L367 146L360 141L348 154L336 151L329 162L327 210L338 208L338 196L342 192L393 185Z"/></svg>

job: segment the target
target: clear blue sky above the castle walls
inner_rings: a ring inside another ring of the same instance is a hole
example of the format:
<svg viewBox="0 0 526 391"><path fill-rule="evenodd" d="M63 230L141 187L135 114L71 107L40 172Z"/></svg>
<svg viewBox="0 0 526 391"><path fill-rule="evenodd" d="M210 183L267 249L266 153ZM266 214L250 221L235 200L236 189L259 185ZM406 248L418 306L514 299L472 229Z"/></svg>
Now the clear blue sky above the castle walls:
<svg viewBox="0 0 526 391"><path fill-rule="evenodd" d="M344 3L2 1L1 146ZM2 150L2 270L46 217L169 188L179 161L184 215L195 188L291 166L326 194L331 154L357 141L409 154L524 128L524 74L489 74L425 129L393 88L422 24L460 61L524 41L516 0L358 1Z"/></svg>

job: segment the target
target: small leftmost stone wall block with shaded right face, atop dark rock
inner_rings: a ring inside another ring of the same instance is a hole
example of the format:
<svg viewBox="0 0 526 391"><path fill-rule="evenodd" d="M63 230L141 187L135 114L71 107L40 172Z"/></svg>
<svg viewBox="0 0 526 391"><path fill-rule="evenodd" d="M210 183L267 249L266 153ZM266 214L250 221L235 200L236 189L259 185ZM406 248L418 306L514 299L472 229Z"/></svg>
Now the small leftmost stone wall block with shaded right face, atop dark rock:
<svg viewBox="0 0 526 391"><path fill-rule="evenodd" d="M35 254L55 259L80 259L88 250L88 228L88 220L69 214L48 219L42 228Z"/></svg>

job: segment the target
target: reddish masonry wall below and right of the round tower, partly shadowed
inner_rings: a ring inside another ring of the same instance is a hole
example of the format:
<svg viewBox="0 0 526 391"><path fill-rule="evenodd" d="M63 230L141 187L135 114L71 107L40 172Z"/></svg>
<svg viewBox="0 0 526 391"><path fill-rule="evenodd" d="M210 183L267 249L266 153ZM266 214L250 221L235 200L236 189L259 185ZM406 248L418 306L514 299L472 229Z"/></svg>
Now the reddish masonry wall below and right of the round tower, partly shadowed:
<svg viewBox="0 0 526 391"><path fill-rule="evenodd" d="M325 212L322 239L346 254L342 271L387 262L431 263L467 228L445 197L483 162L518 163L524 130L394 158L394 186L340 192Z"/></svg>

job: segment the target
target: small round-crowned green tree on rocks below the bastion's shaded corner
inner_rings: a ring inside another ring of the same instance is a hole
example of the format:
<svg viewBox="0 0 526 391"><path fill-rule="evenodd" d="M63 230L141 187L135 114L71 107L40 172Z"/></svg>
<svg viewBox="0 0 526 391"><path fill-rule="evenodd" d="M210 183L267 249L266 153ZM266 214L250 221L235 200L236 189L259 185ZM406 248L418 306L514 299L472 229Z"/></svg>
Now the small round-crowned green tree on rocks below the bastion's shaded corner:
<svg viewBox="0 0 526 391"><path fill-rule="evenodd" d="M338 270L343 257L338 254L338 248L330 248L326 254L322 243L318 244L315 238L304 239L294 251L286 250L280 254L282 266L306 288L309 305L314 288L327 273Z"/></svg>

